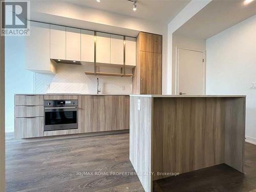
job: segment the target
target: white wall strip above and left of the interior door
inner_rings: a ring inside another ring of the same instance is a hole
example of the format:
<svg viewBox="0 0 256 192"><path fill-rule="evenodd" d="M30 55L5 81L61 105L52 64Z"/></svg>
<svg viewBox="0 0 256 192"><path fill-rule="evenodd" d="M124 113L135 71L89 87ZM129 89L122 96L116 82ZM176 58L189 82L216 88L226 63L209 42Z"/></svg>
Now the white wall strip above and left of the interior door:
<svg viewBox="0 0 256 192"><path fill-rule="evenodd" d="M191 49L196 51L205 51L205 39L195 39L173 33L173 48L172 48L172 94L176 94L176 47Z"/></svg>

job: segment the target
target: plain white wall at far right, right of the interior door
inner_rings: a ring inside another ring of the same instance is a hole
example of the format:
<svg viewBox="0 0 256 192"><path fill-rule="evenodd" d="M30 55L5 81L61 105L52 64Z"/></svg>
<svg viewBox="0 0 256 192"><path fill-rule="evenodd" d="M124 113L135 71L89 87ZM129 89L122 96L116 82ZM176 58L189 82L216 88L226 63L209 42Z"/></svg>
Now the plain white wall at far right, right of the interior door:
<svg viewBox="0 0 256 192"><path fill-rule="evenodd" d="M206 94L246 95L246 139L256 143L256 15L206 40Z"/></svg>

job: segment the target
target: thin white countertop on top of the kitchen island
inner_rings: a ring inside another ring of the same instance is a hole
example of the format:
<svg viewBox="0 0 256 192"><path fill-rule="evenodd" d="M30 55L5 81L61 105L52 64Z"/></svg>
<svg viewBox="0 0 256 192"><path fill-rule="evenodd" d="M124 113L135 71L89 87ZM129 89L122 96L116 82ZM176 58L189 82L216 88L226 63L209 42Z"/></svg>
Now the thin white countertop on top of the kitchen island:
<svg viewBox="0 0 256 192"><path fill-rule="evenodd" d="M246 97L246 95L130 95L131 97Z"/></svg>

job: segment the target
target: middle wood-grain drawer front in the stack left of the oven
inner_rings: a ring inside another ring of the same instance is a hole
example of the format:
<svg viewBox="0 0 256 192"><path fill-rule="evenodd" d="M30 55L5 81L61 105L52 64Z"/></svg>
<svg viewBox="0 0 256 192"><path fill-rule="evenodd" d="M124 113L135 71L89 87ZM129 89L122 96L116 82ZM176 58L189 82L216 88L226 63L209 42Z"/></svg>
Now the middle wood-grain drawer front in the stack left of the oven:
<svg viewBox="0 0 256 192"><path fill-rule="evenodd" d="M18 117L42 117L44 116L44 106L15 106L15 118Z"/></svg>

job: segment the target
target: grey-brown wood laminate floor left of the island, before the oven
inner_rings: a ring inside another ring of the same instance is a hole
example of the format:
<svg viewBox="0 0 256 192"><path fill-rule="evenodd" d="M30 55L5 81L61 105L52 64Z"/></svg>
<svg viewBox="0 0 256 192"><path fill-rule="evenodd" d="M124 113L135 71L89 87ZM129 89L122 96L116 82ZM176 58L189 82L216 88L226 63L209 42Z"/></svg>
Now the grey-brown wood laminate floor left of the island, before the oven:
<svg viewBox="0 0 256 192"><path fill-rule="evenodd" d="M137 176L112 172L134 172L129 133L48 140L7 134L6 191L144 191Z"/></svg>

